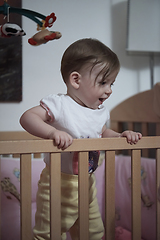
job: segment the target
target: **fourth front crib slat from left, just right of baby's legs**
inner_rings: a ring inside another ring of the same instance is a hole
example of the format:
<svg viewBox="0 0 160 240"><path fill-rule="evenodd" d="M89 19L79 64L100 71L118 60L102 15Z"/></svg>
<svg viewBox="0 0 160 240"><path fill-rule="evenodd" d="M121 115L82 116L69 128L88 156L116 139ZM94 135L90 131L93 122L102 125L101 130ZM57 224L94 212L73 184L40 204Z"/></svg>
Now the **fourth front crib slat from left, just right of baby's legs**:
<svg viewBox="0 0 160 240"><path fill-rule="evenodd" d="M105 161L105 239L115 240L115 152L106 151Z"/></svg>

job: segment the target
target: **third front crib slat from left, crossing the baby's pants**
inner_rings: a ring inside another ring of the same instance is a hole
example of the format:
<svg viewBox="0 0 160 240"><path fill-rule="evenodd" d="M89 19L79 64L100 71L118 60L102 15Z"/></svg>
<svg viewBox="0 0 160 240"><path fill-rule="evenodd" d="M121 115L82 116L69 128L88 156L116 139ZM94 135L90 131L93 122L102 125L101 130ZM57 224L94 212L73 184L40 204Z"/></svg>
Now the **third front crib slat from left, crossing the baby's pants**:
<svg viewBox="0 0 160 240"><path fill-rule="evenodd" d="M79 153L78 166L79 240L89 240L88 152Z"/></svg>

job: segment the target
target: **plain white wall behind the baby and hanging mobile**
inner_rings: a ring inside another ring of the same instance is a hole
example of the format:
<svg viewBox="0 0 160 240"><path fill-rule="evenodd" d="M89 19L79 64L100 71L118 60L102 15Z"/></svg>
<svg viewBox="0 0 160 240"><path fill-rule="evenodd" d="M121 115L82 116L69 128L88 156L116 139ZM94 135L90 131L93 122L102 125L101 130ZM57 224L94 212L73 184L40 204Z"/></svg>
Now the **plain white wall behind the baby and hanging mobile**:
<svg viewBox="0 0 160 240"><path fill-rule="evenodd" d="M19 118L38 105L49 93L65 93L60 75L61 56L68 45L85 37L98 38L115 51L121 62L113 94L105 103L109 110L120 101L150 88L149 57L126 54L127 1L122 0L27 0L23 8L49 15L57 20L50 30L62 38L33 47L27 40L36 33L36 23L23 17L23 101L0 103L0 131L21 130ZM159 57L155 58L155 82L159 81Z"/></svg>

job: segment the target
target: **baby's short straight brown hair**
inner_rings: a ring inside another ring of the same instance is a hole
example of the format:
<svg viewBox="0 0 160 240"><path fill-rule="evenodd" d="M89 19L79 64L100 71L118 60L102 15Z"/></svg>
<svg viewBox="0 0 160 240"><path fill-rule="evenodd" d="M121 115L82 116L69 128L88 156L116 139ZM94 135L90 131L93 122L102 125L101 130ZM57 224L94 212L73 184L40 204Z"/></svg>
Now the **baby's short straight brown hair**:
<svg viewBox="0 0 160 240"><path fill-rule="evenodd" d="M64 82L67 83L73 71L79 72L88 63L91 63L92 69L97 64L105 64L101 71L104 77L120 68L118 57L110 48L97 39L85 38L72 43L62 56L61 74Z"/></svg>

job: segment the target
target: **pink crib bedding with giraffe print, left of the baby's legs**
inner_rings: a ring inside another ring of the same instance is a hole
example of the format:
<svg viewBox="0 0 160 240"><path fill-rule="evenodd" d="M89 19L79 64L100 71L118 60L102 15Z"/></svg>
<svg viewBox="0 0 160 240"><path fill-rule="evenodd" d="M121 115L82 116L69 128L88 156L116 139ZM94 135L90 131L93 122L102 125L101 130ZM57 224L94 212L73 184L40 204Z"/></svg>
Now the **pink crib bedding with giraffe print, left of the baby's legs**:
<svg viewBox="0 0 160 240"><path fill-rule="evenodd" d="M32 160L32 226L36 212L36 192L43 159ZM1 219L2 240L20 240L20 161L1 157Z"/></svg>

